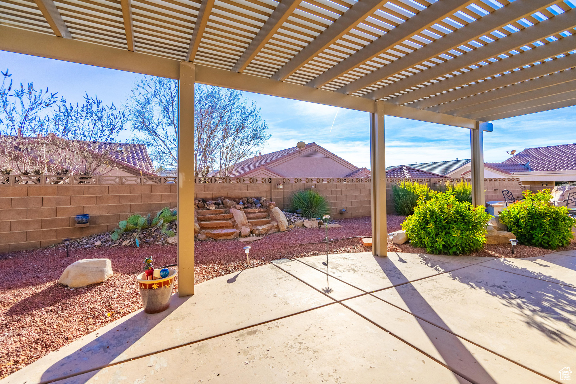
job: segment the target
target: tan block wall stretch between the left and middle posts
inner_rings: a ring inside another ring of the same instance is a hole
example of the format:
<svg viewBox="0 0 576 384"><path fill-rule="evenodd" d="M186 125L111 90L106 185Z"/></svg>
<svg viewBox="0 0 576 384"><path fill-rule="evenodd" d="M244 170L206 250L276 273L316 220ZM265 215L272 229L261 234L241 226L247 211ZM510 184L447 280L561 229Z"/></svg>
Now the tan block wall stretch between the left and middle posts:
<svg viewBox="0 0 576 384"><path fill-rule="evenodd" d="M276 202L280 209L289 206L294 191L314 189L324 195L331 204L331 216L339 217L370 216L370 183L282 183L282 188L276 187L282 179L272 178L266 183L214 183L196 184L195 197L214 199L218 197L266 197ZM341 209L346 213L340 214Z"/></svg>

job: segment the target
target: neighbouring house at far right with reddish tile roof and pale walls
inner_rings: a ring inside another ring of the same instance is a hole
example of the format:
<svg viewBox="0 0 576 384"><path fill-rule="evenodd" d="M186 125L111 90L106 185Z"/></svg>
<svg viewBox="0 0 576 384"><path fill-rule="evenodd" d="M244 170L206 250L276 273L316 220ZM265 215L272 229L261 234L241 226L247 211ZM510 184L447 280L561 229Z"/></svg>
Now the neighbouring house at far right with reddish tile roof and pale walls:
<svg viewBox="0 0 576 384"><path fill-rule="evenodd" d="M470 163L446 176L469 178ZM576 144L526 148L502 163L484 163L486 178L519 178L523 185L576 185Z"/></svg>

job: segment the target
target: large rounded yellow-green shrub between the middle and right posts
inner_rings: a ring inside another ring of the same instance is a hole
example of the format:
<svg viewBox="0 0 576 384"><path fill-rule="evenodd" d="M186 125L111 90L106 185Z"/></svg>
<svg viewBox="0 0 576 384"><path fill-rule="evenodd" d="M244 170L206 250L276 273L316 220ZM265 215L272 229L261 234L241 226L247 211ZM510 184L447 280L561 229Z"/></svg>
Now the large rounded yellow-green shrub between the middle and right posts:
<svg viewBox="0 0 576 384"><path fill-rule="evenodd" d="M428 253L458 255L479 250L486 243L490 214L483 206L458 201L450 191L421 193L414 214L402 223L411 244Z"/></svg>

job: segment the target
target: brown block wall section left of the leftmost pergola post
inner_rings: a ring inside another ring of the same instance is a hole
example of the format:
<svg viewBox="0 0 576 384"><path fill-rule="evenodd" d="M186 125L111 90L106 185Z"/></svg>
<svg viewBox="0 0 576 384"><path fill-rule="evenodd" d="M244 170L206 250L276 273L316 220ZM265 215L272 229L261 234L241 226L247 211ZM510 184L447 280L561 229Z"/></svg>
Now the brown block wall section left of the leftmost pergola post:
<svg viewBox="0 0 576 384"><path fill-rule="evenodd" d="M112 231L134 213L174 208L176 185L0 186L0 253ZM88 213L88 227L74 216Z"/></svg>

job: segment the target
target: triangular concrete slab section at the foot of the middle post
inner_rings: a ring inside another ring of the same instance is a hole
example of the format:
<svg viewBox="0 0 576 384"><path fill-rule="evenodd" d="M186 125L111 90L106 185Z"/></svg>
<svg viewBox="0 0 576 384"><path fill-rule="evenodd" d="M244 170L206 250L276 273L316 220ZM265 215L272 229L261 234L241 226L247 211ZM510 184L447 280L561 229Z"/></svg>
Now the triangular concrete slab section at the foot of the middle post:
<svg viewBox="0 0 576 384"><path fill-rule="evenodd" d="M328 274L365 292L374 292L491 259L392 252L388 253L388 257L375 257L368 252L344 253L329 255ZM326 262L325 255L298 258L298 261L325 273L326 266L322 265ZM390 270L391 273L399 270L401 273L387 276L384 270Z"/></svg>

